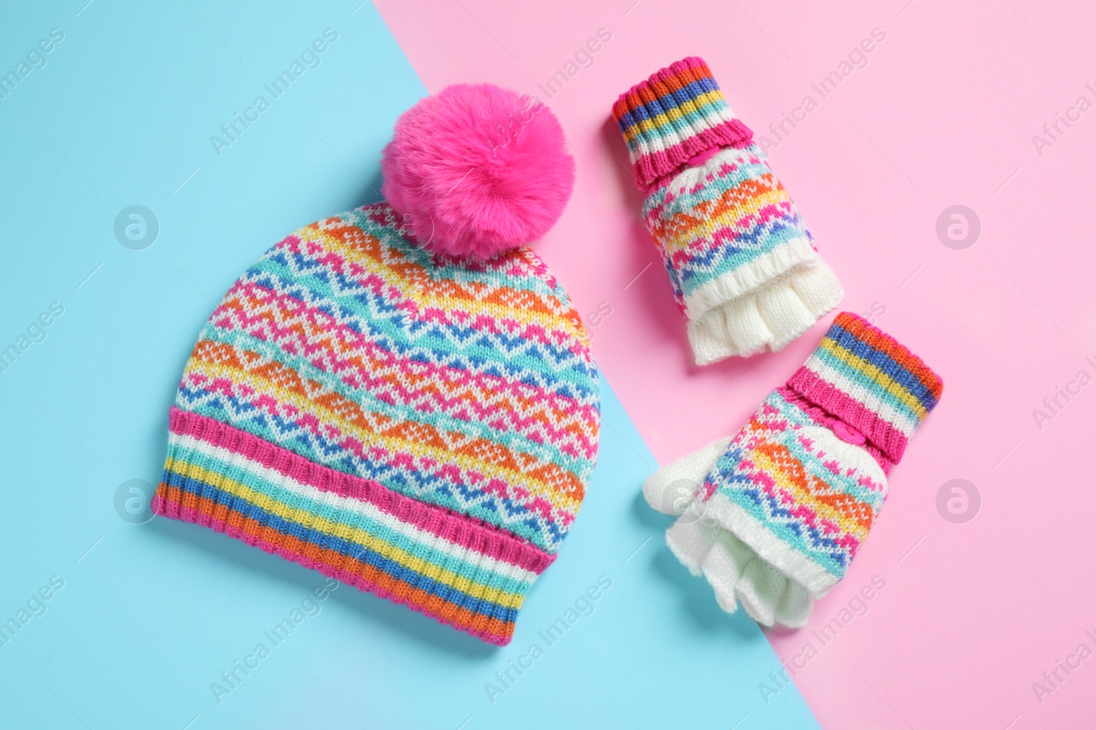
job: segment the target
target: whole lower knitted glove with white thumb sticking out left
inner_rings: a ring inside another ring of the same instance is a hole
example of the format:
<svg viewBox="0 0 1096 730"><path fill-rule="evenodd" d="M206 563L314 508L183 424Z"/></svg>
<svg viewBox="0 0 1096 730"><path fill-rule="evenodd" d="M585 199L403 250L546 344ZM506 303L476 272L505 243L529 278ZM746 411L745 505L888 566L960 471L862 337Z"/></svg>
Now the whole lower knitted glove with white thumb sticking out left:
<svg viewBox="0 0 1096 730"><path fill-rule="evenodd" d="M887 497L887 475L944 384L859 316L822 343L733 439L655 472L651 507L680 514L666 543L719 605L803 626L841 580Z"/></svg>

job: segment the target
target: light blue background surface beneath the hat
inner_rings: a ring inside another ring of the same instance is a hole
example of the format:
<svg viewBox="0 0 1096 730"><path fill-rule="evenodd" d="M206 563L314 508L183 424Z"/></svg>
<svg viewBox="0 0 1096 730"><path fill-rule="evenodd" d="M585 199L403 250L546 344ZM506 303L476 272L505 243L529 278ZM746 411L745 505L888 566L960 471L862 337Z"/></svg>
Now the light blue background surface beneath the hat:
<svg viewBox="0 0 1096 730"><path fill-rule="evenodd" d="M0 100L0 348L65 308L0 374L0 621L65 581L0 647L0 727L817 727L794 687L763 702L764 636L666 552L639 497L654 460L607 384L594 482L510 647L341 587L217 704L210 683L322 577L195 525L129 524L115 490L158 482L213 301L288 231L376 199L380 148L425 91L357 0L84 1L0 11L0 72L65 33ZM210 135L327 27L320 67L217 157ZM113 234L135 204L161 229L144 251ZM547 647L537 631L600 576L595 612ZM492 704L484 683L533 641L545 656Z"/></svg>

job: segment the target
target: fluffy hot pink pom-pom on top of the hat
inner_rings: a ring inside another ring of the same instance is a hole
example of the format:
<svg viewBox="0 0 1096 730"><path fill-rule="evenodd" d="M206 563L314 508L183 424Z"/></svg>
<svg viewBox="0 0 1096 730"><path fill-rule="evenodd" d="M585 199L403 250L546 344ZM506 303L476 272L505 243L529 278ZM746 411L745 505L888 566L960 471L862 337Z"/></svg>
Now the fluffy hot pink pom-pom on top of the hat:
<svg viewBox="0 0 1096 730"><path fill-rule="evenodd" d="M486 83L446 86L404 112L380 169L404 231L439 254L479 259L544 235L574 186L556 116Z"/></svg>

